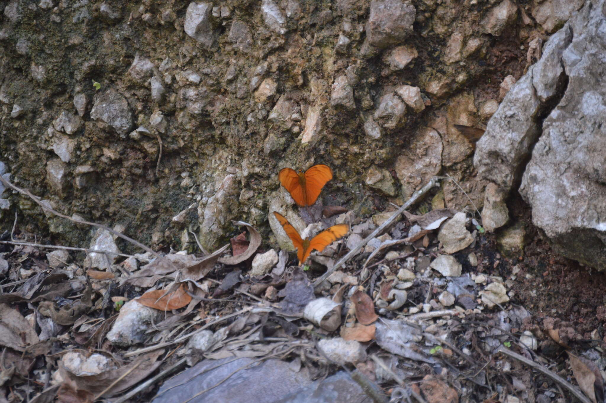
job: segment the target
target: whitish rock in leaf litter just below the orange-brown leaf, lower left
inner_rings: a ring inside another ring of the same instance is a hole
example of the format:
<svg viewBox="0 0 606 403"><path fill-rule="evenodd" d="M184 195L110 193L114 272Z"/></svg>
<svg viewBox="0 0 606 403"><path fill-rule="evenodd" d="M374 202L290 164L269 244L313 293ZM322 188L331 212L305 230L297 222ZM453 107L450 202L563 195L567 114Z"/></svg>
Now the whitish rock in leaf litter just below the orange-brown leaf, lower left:
<svg viewBox="0 0 606 403"><path fill-rule="evenodd" d="M139 304L136 299L128 301L120 308L120 313L107 333L113 345L129 347L145 340L145 332L153 323L162 318L162 311Z"/></svg>

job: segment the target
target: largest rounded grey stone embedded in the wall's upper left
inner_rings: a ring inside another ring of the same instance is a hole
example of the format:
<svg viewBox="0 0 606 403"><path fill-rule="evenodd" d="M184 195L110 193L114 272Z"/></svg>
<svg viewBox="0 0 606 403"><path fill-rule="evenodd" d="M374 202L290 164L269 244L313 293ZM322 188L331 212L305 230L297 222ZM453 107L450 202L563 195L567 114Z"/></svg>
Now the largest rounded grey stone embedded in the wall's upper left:
<svg viewBox="0 0 606 403"><path fill-rule="evenodd" d="M90 117L107 125L120 135L126 135L133 127L133 116L124 96L115 90L95 95Z"/></svg>

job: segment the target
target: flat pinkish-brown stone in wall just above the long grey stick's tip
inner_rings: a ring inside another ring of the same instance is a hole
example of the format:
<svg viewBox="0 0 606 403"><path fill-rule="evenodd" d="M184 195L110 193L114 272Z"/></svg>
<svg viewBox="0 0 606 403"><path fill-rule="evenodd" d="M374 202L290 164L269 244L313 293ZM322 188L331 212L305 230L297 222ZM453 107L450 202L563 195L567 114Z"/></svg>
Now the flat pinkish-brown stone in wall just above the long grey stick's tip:
<svg viewBox="0 0 606 403"><path fill-rule="evenodd" d="M402 183L405 199L421 188L442 170L442 138L431 127L415 133L409 153L402 153L396 160L396 175Z"/></svg>

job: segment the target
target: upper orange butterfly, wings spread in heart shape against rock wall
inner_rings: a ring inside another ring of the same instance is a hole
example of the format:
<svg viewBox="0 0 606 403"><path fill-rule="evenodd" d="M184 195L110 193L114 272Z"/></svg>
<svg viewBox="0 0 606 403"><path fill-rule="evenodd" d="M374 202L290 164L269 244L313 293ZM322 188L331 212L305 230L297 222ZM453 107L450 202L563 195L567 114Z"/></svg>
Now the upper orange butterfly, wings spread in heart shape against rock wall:
<svg viewBox="0 0 606 403"><path fill-rule="evenodd" d="M296 172L291 168L283 168L278 174L280 183L291 196L296 204L301 207L312 205L318 200L318 196L326 182L333 179L333 171L328 165L313 165L305 173Z"/></svg>

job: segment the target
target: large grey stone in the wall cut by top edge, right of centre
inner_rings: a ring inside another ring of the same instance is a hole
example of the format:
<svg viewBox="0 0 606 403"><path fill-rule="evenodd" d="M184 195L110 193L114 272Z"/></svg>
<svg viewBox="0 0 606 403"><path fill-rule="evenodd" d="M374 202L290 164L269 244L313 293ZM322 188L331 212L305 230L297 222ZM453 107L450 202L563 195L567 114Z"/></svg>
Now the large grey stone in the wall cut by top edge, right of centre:
<svg viewBox="0 0 606 403"><path fill-rule="evenodd" d="M366 23L366 37L370 45L384 48L399 44L413 32L416 10L400 0L373 0Z"/></svg>

